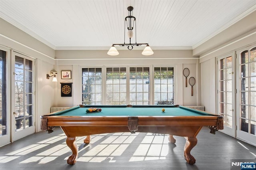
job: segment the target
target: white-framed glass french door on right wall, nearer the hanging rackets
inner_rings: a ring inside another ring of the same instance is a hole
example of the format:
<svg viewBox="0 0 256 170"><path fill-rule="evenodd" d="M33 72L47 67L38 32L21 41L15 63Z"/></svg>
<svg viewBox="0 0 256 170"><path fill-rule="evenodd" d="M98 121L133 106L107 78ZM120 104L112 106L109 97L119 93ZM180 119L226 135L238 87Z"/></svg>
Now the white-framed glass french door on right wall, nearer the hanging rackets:
<svg viewBox="0 0 256 170"><path fill-rule="evenodd" d="M222 132L235 137L235 59L234 53L217 58L217 111L224 117Z"/></svg>

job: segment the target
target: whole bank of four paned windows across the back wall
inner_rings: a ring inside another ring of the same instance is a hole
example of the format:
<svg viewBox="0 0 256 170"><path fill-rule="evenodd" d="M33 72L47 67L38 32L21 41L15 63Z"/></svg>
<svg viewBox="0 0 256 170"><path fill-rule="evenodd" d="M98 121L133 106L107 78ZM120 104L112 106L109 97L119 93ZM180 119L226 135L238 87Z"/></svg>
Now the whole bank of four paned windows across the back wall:
<svg viewBox="0 0 256 170"><path fill-rule="evenodd" d="M83 105L174 104L173 67L81 69Z"/></svg>

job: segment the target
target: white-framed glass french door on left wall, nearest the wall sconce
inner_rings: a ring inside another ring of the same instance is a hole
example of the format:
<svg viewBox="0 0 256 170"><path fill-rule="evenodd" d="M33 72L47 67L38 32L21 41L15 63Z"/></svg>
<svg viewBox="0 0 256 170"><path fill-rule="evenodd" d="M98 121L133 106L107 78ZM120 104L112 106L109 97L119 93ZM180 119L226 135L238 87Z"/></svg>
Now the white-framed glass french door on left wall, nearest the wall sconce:
<svg viewBox="0 0 256 170"><path fill-rule="evenodd" d="M35 132L34 65L31 57L12 53L12 142Z"/></svg>

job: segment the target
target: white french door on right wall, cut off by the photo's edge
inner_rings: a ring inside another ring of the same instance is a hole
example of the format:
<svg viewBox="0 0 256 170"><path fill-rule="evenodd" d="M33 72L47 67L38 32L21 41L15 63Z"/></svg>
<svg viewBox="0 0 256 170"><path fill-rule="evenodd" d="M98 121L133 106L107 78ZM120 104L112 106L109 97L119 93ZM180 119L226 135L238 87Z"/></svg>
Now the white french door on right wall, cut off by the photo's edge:
<svg viewBox="0 0 256 170"><path fill-rule="evenodd" d="M237 138L256 145L256 45L236 52L238 56Z"/></svg>

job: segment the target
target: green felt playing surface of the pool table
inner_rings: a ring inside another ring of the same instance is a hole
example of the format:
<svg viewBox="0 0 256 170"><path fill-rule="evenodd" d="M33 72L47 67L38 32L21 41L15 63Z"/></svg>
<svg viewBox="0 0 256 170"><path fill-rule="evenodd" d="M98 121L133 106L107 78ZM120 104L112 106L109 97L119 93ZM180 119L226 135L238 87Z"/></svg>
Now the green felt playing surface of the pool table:
<svg viewBox="0 0 256 170"><path fill-rule="evenodd" d="M60 115L60 116L210 116L203 111L197 111L194 109L190 109L187 107L111 107L111 106L97 106L97 108L101 108L101 112L92 112L86 113L86 109L90 107L72 107L70 109L66 109L65 111L60 111L54 113L52 115ZM162 109L165 109L162 112Z"/></svg>

